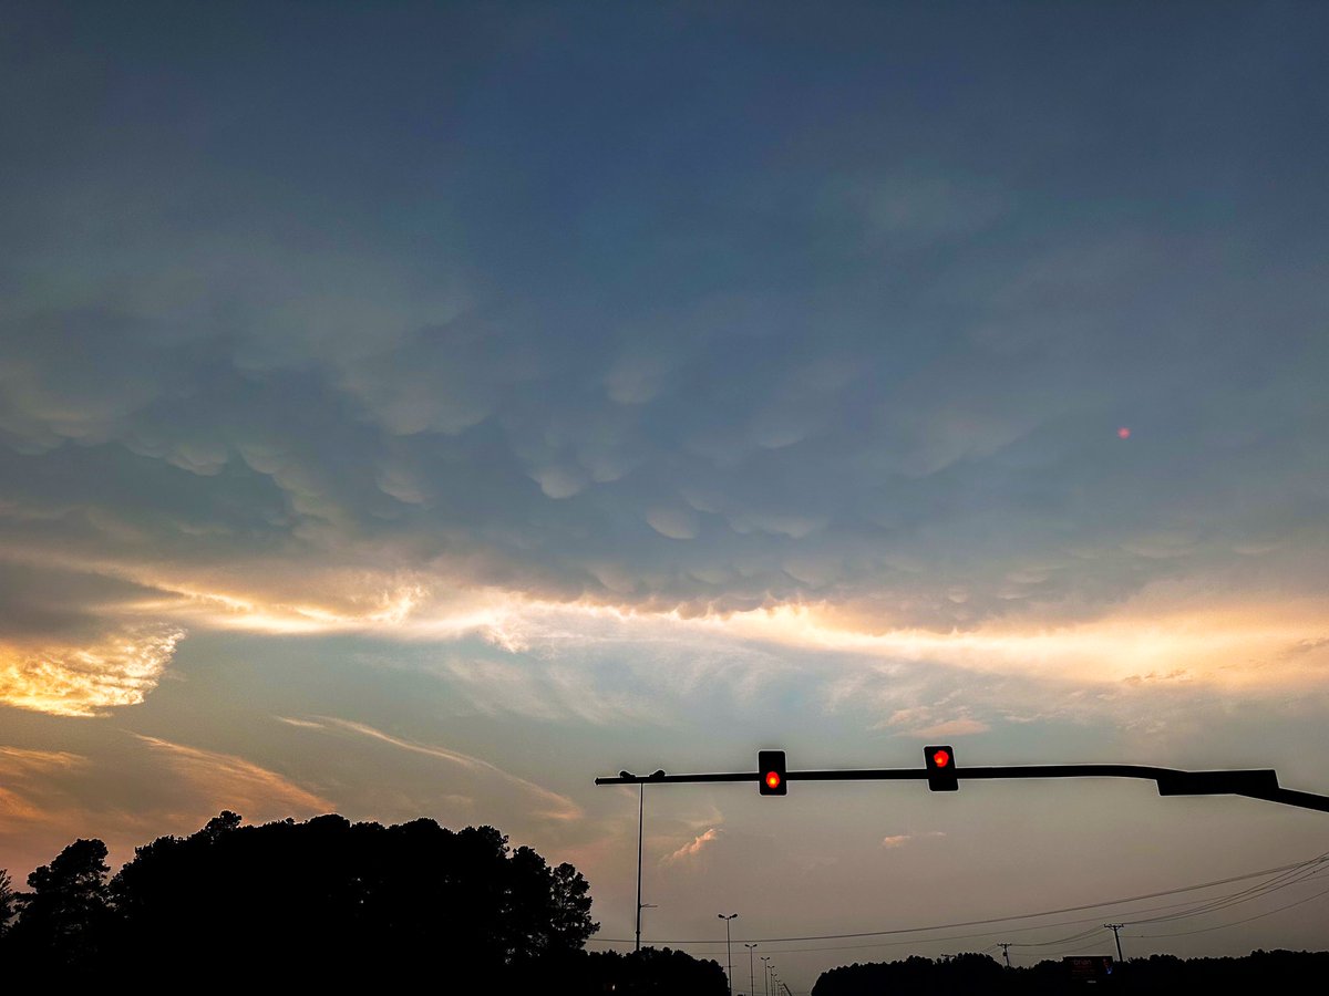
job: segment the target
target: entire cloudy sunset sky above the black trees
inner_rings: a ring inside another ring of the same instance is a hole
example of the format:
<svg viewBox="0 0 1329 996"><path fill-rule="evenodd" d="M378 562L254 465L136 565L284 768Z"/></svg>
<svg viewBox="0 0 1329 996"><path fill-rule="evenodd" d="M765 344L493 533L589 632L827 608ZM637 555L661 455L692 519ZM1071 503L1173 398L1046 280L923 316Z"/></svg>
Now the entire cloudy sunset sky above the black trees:
<svg viewBox="0 0 1329 996"><path fill-rule="evenodd" d="M16 882L222 809L424 815L573 862L622 950L638 798L593 780L623 769L945 742L1329 794L1325 7L0 25ZM1104 922L1127 956L1329 928L1321 876L1155 923L1215 894L772 942L1324 853L1324 814L1252 799L791 782L645 813L645 943L723 957L738 912L795 993L1108 954Z"/></svg>

